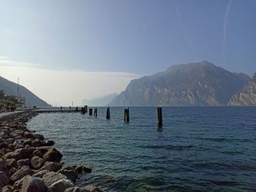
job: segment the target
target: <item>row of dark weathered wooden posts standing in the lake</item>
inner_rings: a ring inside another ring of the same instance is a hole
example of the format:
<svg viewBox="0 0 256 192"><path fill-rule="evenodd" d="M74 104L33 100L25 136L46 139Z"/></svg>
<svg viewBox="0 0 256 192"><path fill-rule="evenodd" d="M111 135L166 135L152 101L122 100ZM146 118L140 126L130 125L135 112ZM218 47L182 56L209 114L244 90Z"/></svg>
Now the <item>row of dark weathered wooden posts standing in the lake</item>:
<svg viewBox="0 0 256 192"><path fill-rule="evenodd" d="M81 114L85 115L88 112L88 106L81 108ZM92 108L89 108L89 116L92 116ZM94 108L94 117L98 116L97 108ZM110 107L106 110L106 119L110 119ZM129 107L124 109L124 122L129 123ZM157 107L157 126L162 127L162 107Z"/></svg>

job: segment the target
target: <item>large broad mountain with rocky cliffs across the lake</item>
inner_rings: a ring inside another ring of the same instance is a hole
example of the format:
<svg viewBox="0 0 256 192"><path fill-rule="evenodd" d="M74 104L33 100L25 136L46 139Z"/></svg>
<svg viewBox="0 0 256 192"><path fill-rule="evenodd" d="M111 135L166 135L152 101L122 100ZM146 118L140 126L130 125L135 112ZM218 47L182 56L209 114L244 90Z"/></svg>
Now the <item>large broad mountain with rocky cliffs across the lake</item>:
<svg viewBox="0 0 256 192"><path fill-rule="evenodd" d="M225 105L250 77L202 61L132 80L111 106Z"/></svg>

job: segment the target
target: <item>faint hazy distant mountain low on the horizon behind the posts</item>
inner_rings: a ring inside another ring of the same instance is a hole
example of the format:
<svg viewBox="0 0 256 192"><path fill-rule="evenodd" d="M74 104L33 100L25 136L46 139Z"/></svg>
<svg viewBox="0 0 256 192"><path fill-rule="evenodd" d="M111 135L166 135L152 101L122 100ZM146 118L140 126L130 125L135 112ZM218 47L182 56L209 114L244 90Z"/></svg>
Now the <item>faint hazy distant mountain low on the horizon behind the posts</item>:
<svg viewBox="0 0 256 192"><path fill-rule="evenodd" d="M110 101L112 101L113 98L115 98L116 96L118 96L118 93L112 93L108 96L102 96L102 97L91 99L91 100L83 99L82 106L89 105L89 106L104 107L104 106L107 106L110 103Z"/></svg>

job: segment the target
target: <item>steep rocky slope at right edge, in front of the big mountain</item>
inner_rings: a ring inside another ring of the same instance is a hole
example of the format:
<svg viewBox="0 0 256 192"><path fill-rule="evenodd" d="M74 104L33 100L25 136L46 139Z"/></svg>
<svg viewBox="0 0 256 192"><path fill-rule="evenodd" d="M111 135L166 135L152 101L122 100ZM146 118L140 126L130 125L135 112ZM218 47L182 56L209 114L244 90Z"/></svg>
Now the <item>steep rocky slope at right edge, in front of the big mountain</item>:
<svg viewBox="0 0 256 192"><path fill-rule="evenodd" d="M256 73L244 88L233 95L228 101L229 105L256 105Z"/></svg>

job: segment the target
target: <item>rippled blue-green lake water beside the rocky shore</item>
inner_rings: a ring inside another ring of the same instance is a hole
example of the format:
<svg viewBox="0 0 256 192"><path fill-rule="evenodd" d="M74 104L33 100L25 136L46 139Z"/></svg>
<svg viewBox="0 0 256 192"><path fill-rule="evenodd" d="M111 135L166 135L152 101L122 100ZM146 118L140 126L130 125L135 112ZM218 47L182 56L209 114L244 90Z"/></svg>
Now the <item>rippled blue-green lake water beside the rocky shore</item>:
<svg viewBox="0 0 256 192"><path fill-rule="evenodd" d="M40 114L32 130L56 142L63 161L93 169L77 185L105 191L256 191L256 107L105 107L98 117Z"/></svg>

